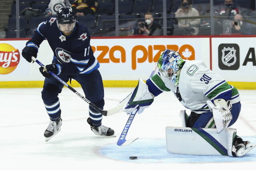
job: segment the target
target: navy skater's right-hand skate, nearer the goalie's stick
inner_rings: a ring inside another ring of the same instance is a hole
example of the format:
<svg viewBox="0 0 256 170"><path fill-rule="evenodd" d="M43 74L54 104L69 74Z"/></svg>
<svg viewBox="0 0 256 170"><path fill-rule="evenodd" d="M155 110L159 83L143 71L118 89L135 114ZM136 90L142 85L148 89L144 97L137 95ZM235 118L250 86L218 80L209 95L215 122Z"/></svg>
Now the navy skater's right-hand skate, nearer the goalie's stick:
<svg viewBox="0 0 256 170"><path fill-rule="evenodd" d="M105 137L116 137L116 135L114 134L115 132L112 128L106 127L104 125L94 127L90 121L90 117L88 117L87 123L90 125L92 132L94 132L94 134L96 135Z"/></svg>

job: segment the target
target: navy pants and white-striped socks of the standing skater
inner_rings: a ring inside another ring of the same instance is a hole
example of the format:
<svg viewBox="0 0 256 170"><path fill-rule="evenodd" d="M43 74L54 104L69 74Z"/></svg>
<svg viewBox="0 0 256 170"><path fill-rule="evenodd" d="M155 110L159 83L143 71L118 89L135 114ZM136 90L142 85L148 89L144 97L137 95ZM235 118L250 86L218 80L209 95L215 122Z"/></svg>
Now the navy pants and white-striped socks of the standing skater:
<svg viewBox="0 0 256 170"><path fill-rule="evenodd" d="M65 82L68 82L68 80L70 79L70 76L68 75L58 75L58 77L60 77L60 79L62 79ZM78 83L82 86L85 97L89 101L91 101L94 105L96 105L100 109L103 109L105 104L104 88L102 83L102 77L98 69L87 74L76 74L72 76L72 79L75 79L76 81L78 81ZM42 99L44 101L46 111L51 121L56 121L60 117L61 109L60 109L60 101L58 98L58 94L61 93L63 87L64 85L54 77L45 78L44 80L44 88L42 90ZM85 103L85 105L87 104ZM76 105L70 105L70 107L75 108ZM94 126L98 127L101 125L102 115L98 113L98 111L93 109L90 105L89 105L89 115L91 118L91 123Z"/></svg>

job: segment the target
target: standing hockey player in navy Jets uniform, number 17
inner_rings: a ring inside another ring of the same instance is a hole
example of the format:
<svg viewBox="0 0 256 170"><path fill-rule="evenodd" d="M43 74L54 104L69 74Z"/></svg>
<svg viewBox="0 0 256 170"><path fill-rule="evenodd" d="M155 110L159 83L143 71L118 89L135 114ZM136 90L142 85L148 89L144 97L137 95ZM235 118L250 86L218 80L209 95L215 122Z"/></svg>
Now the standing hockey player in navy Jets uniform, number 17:
<svg viewBox="0 0 256 170"><path fill-rule="evenodd" d="M62 125L58 94L64 86L48 71L52 71L65 82L71 78L75 79L82 86L88 100L100 109L104 107L102 77L98 71L99 63L90 45L88 29L75 20L74 12L69 6L60 7L56 16L57 18L50 18L39 24L32 39L22 50L22 56L32 62L31 57L37 56L39 45L47 39L54 53L52 64L40 67L40 72L46 77L42 99L50 117L50 124L44 132L46 141L58 133ZM114 130L102 125L102 115L91 106L89 115L87 122L95 134L115 136Z"/></svg>

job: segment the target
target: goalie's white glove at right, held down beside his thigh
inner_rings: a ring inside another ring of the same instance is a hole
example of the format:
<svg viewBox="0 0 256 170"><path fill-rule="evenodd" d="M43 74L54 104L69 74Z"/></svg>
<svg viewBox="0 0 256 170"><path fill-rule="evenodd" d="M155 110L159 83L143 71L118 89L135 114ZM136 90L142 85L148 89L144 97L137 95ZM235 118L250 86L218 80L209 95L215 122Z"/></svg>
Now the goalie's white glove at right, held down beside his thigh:
<svg viewBox="0 0 256 170"><path fill-rule="evenodd" d="M232 104L230 101L216 99L214 100L214 104L211 101L206 101L206 103L212 111L217 133L220 133L222 130L228 128L228 125L232 120L232 114L230 112L232 109Z"/></svg>

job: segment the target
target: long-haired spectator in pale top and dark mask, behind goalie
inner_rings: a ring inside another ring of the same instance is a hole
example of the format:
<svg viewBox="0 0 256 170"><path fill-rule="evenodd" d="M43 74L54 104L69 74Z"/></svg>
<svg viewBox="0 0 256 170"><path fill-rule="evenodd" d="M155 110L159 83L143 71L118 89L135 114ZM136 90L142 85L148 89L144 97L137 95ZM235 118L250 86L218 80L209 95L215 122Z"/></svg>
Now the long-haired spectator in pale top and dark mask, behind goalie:
<svg viewBox="0 0 256 170"><path fill-rule="evenodd" d="M182 0L175 17L178 17L178 28L174 30L173 35L197 35L199 33L200 19L198 10L192 8L192 0ZM179 17L195 17L188 19L179 19Z"/></svg>

